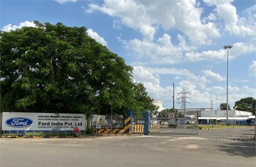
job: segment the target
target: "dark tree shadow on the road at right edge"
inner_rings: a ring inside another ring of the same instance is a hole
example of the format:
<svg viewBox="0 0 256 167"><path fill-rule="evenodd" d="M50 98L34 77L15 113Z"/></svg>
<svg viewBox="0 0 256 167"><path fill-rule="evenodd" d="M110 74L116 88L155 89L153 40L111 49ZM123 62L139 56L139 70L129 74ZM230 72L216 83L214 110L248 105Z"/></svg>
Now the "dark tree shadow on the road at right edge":
<svg viewBox="0 0 256 167"><path fill-rule="evenodd" d="M217 146L219 151L226 152L225 155L255 157L255 142L229 142Z"/></svg>

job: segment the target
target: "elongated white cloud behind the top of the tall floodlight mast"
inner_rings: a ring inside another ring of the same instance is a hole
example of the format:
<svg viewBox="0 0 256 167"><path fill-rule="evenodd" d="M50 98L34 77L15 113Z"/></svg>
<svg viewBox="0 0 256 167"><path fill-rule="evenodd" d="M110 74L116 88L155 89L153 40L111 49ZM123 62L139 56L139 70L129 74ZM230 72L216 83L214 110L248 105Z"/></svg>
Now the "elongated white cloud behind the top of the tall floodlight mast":
<svg viewBox="0 0 256 167"><path fill-rule="evenodd" d="M251 54L256 52L256 47L253 43L244 44L242 42L237 42L233 44L233 48L229 50L229 59L235 59L243 54ZM185 54L186 59L190 61L203 61L203 60L226 60L227 59L227 50L219 49L217 50L208 50L199 52L187 52Z"/></svg>

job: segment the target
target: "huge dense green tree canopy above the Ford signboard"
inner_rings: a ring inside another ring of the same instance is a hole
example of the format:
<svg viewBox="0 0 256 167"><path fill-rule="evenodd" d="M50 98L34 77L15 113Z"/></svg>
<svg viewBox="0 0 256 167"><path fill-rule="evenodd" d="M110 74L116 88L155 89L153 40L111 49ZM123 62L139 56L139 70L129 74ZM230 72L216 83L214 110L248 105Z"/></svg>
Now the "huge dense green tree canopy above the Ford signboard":
<svg viewBox="0 0 256 167"><path fill-rule="evenodd" d="M1 111L123 114L152 110L132 81L133 67L96 42L86 27L34 21L0 33Z"/></svg>

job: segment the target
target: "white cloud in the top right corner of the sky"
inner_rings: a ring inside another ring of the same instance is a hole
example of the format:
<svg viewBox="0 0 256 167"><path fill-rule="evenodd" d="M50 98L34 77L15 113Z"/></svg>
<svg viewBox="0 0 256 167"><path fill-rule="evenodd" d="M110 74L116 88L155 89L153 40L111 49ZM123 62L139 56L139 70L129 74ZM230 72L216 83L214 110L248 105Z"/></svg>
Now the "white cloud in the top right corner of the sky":
<svg viewBox="0 0 256 167"><path fill-rule="evenodd" d="M251 35L254 36L256 33L256 24L254 24L256 17L255 15L247 15L246 17L239 18L237 9L230 2L233 0L203 0L209 5L215 5L214 10L219 18L223 18L225 21L225 29L231 34L235 35ZM255 10L255 7L251 7L246 10L246 14L251 14L251 11ZM254 20L254 22L252 22Z"/></svg>

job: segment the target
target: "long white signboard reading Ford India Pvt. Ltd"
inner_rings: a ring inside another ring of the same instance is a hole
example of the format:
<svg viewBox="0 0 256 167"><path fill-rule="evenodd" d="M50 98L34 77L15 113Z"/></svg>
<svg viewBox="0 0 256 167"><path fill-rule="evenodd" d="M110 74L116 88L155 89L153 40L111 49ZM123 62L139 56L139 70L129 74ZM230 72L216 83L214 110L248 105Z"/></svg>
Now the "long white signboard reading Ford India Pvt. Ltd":
<svg viewBox="0 0 256 167"><path fill-rule="evenodd" d="M2 131L85 131L85 114L3 112Z"/></svg>

